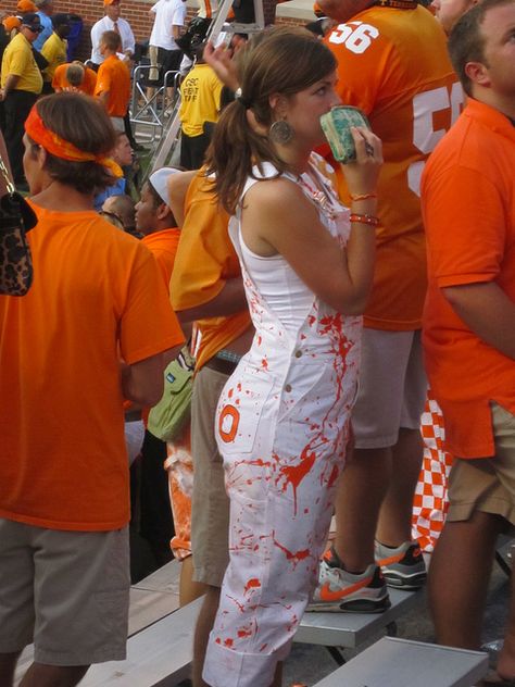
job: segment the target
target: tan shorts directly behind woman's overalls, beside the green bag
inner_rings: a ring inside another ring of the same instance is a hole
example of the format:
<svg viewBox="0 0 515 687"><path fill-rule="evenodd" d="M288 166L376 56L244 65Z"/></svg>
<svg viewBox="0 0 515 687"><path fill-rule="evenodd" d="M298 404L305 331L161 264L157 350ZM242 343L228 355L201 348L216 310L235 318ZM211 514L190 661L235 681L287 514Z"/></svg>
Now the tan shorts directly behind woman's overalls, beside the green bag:
<svg viewBox="0 0 515 687"><path fill-rule="evenodd" d="M193 579L213 587L222 586L229 562L229 499L214 436L216 404L227 379L222 372L202 367L194 377L191 400Z"/></svg>

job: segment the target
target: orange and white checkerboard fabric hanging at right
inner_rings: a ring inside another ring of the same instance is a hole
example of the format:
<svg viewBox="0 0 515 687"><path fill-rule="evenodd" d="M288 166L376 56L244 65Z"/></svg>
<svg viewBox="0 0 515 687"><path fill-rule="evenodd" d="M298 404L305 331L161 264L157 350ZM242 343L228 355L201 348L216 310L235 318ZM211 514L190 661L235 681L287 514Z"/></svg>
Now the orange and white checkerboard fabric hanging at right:
<svg viewBox="0 0 515 687"><path fill-rule="evenodd" d="M452 457L443 449L443 415L430 389L422 415L420 430L424 438L424 462L413 502L413 538L418 539L423 551L431 552L449 508L448 479Z"/></svg>

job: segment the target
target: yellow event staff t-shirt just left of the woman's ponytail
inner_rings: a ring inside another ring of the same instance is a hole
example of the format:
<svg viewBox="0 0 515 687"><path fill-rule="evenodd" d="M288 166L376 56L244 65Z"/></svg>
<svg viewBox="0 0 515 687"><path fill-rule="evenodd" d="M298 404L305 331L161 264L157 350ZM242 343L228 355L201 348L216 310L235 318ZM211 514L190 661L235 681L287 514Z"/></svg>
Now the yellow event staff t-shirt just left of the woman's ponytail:
<svg viewBox="0 0 515 687"><path fill-rule="evenodd" d="M180 123L187 136L200 136L204 122L216 122L223 84L209 64L197 64L180 85Z"/></svg>

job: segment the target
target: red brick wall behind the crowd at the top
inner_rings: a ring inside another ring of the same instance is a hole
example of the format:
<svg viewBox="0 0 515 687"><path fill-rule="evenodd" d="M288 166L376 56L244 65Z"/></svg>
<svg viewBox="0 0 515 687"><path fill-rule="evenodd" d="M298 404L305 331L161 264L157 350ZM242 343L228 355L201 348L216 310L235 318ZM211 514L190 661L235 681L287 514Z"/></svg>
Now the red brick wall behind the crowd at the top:
<svg viewBox="0 0 515 687"><path fill-rule="evenodd" d="M149 10L155 0L124 0L122 3L122 16L127 20L136 36L136 40L146 41L152 30L153 15L149 15ZM277 0L263 0L265 23L273 24L275 21L275 8ZM2 2L2 10L7 13L15 11L16 1L7 0ZM89 40L89 29L104 14L102 0L54 0L54 8L58 12L71 12L83 17L84 29L77 58L86 60L91 54L91 42ZM192 16L194 10L189 9L188 15ZM280 23L294 24L293 20L281 20Z"/></svg>

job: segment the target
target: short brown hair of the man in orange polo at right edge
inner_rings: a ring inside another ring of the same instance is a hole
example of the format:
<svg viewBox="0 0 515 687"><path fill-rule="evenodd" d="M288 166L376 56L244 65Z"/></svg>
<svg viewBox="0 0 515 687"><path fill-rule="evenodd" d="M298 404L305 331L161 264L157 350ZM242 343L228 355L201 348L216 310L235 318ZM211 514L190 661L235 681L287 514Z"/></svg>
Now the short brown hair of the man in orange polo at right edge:
<svg viewBox="0 0 515 687"><path fill-rule="evenodd" d="M468 62L480 62L488 66L485 59L485 36L481 33L481 24L489 10L513 4L514 0L482 0L454 24L449 36L449 54L464 91L472 96L472 80L466 74Z"/></svg>

